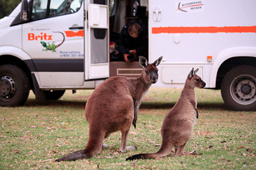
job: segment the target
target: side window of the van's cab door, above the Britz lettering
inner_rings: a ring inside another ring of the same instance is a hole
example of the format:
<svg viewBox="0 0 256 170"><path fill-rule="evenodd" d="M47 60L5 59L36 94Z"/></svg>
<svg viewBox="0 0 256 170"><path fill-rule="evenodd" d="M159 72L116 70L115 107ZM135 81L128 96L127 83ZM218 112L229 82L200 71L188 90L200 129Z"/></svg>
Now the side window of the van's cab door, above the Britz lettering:
<svg viewBox="0 0 256 170"><path fill-rule="evenodd" d="M77 12L83 0L34 0L31 19L33 21ZM47 8L49 6L49 8Z"/></svg>

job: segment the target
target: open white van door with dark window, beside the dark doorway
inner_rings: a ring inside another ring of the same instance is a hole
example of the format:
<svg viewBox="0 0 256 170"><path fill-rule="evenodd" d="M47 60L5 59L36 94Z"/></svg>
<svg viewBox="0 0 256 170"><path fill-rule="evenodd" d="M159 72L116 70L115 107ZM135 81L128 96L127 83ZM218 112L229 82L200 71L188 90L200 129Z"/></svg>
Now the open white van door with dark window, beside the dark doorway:
<svg viewBox="0 0 256 170"><path fill-rule="evenodd" d="M107 0L85 0L85 80L109 77Z"/></svg>

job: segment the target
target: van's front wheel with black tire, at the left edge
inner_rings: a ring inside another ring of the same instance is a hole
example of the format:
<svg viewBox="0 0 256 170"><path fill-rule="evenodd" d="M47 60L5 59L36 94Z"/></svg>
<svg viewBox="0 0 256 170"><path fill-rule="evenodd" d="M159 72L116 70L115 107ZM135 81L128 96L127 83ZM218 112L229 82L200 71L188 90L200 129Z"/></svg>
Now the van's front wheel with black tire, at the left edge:
<svg viewBox="0 0 256 170"><path fill-rule="evenodd" d="M22 106L29 90L29 78L20 67L0 66L0 106Z"/></svg>

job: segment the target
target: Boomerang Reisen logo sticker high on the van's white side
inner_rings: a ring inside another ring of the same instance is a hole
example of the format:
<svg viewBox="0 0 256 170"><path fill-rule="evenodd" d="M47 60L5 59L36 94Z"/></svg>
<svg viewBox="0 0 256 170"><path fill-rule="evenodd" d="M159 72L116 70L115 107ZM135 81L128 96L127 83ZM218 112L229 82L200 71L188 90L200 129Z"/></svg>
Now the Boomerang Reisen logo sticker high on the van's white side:
<svg viewBox="0 0 256 170"><path fill-rule="evenodd" d="M204 12L204 1L176 1L176 12Z"/></svg>

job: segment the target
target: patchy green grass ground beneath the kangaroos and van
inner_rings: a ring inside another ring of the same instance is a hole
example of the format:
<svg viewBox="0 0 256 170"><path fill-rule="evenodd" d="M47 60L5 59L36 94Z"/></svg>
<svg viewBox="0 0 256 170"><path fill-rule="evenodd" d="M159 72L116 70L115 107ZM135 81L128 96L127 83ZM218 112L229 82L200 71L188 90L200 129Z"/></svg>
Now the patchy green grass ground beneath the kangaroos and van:
<svg viewBox="0 0 256 170"><path fill-rule="evenodd" d="M66 93L58 101L37 101L32 91L25 106L0 108L0 169L255 169L256 112L236 112L223 103L220 91L196 89L199 119L185 151L200 156L126 162L128 156L156 152L162 142L165 114L176 103L177 88L150 88L139 109L137 128L130 128L128 145L134 151L117 152L121 133L104 142L109 146L88 160L59 162L84 149L88 140L85 103L92 90Z"/></svg>

